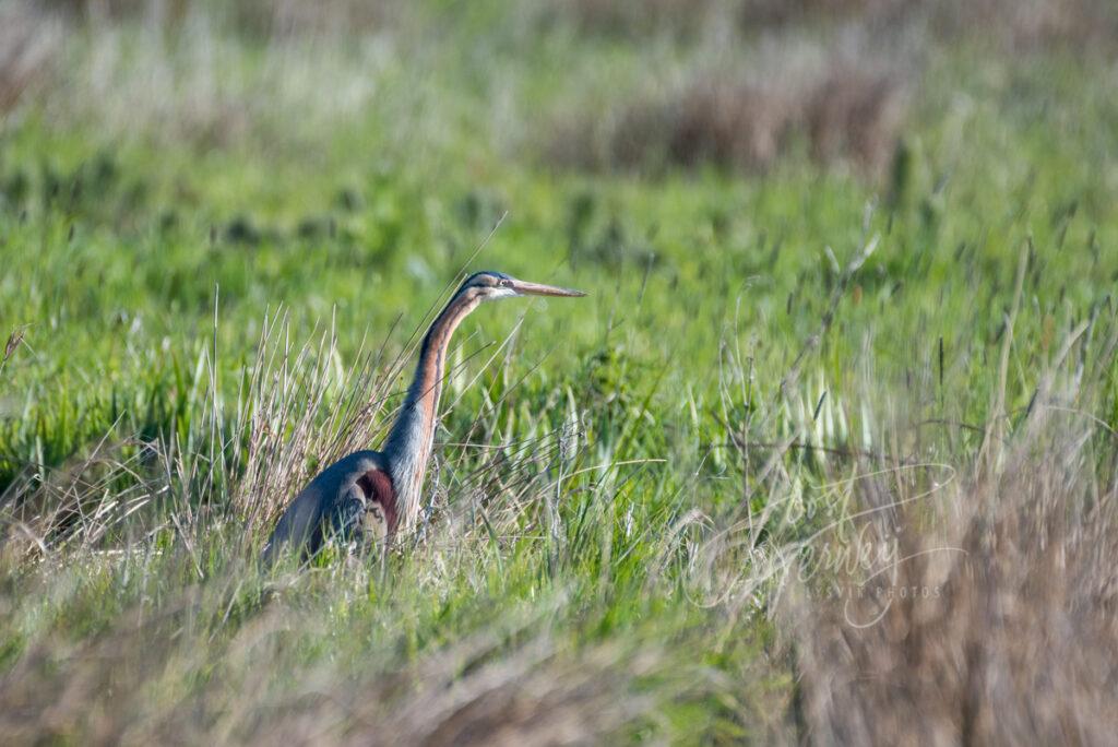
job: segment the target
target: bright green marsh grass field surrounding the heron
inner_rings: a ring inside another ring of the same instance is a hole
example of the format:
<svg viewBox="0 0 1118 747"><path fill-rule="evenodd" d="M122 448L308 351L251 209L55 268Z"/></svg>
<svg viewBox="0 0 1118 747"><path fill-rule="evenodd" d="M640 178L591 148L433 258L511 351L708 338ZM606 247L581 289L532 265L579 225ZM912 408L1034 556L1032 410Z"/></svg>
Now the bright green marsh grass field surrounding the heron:
<svg viewBox="0 0 1118 747"><path fill-rule="evenodd" d="M414 68L389 64L380 105L313 140L169 144L34 102L4 122L0 324L25 331L0 370L0 492L23 522L6 521L0 566L13 738L445 737L456 719L502 724L493 703L537 737L574 721L632 740L790 738L798 660L765 558L854 510L851 477L872 464L977 470L983 429L1023 428L1083 321L1058 384L1082 363L1091 394L1064 404L1118 427L1109 68L951 49L925 72L904 167L880 182L795 149L765 174L582 174L490 133L489 77L506 70L530 127L578 87L549 87L550 55L618 78L647 58L540 32L547 55L504 63L511 31L490 15L420 46ZM249 386L278 344L262 343L269 315L292 360L332 330L313 371L285 375L305 375L291 401L323 428L305 454L280 438L299 483L330 428L383 425L391 399L372 423L329 420L359 351L406 354L458 273L489 267L590 296L485 306L458 332L426 537L381 560L256 568L268 526L238 491L274 391ZM735 438L796 445L762 473L773 450ZM44 523L114 498L102 535ZM704 567L747 517L748 547ZM20 526L55 546L25 557ZM63 684L72 700L44 715Z"/></svg>

